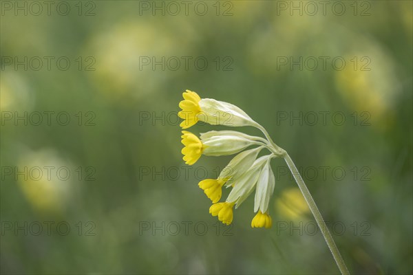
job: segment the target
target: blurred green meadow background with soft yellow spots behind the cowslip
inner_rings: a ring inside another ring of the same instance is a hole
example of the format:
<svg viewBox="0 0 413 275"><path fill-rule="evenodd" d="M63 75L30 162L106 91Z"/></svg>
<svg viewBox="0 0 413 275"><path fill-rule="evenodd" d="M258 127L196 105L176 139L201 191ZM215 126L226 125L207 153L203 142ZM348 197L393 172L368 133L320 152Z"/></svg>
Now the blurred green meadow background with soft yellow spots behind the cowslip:
<svg viewBox="0 0 413 275"><path fill-rule="evenodd" d="M288 151L350 272L412 274L412 1L324 2L1 1L1 273L338 273L282 159L273 228L211 217L191 89Z"/></svg>

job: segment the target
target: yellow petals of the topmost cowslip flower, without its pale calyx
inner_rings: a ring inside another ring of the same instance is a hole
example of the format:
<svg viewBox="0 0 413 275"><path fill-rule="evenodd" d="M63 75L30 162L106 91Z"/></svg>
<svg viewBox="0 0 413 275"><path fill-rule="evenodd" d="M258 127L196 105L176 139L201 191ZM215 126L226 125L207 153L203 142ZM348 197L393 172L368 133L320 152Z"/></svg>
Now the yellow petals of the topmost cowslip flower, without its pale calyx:
<svg viewBox="0 0 413 275"><path fill-rule="evenodd" d="M187 129L198 122L198 114L201 112L199 104L201 98L195 91L189 90L185 91L182 96L184 100L179 102L179 107L182 111L180 111L178 115L184 119L184 121L182 121L179 126L181 126L182 129Z"/></svg>

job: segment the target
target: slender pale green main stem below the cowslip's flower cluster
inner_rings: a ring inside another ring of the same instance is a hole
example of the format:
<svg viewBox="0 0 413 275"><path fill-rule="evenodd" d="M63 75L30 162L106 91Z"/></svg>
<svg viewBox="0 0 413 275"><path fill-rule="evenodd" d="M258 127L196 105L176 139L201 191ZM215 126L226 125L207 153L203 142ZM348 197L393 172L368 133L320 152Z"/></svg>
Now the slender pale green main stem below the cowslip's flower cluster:
<svg viewBox="0 0 413 275"><path fill-rule="evenodd" d="M348 272L346 264L343 261L343 258L341 257L339 250L337 249L337 245L332 239L330 231L326 227L326 222L321 216L321 213L319 209L317 208L317 205L315 204L313 197L311 197L310 191L308 191L308 188L306 184L304 183L304 180L302 179L301 175L299 175L299 172L297 170L297 167L295 167L293 160L288 155L288 153L284 155L284 159L288 165L288 168L290 168L290 171L293 174L295 181L297 181L298 187L301 190L301 193L304 195L304 199L306 199L308 207L313 213L315 217L315 221L317 221L317 224L319 225L321 233L323 233L324 239L326 239L328 248L330 248L332 256L334 257L335 262L337 263L337 266L339 267L341 274L350 274L350 272Z"/></svg>

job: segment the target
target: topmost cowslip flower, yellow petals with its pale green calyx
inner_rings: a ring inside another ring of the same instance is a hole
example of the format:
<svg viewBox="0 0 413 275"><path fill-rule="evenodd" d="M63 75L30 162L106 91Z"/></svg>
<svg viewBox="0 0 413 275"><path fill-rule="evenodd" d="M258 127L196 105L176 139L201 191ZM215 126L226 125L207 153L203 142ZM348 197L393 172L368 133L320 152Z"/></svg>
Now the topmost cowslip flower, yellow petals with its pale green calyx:
<svg viewBox="0 0 413 275"><path fill-rule="evenodd" d="M235 105L211 98L200 98L195 91L187 90L182 94L184 100L179 103L182 111L178 116L184 121L180 123L182 129L188 129L198 121L211 125L225 126L255 126L252 120L242 109Z"/></svg>

